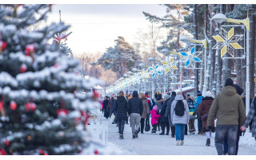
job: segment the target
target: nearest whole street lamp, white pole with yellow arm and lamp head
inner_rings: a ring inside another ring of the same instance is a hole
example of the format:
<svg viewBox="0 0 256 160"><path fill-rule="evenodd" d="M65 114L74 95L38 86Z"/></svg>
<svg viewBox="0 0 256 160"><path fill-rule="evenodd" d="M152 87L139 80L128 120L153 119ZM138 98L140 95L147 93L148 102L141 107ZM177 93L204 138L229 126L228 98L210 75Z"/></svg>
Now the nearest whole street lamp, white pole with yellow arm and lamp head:
<svg viewBox="0 0 256 160"><path fill-rule="evenodd" d="M247 12L247 18L246 19L232 19L232 18L226 18L226 15L224 14L215 14L212 18L214 21L218 23L222 22L233 22L235 24L243 24L246 26L246 114L249 113L250 110L250 82L249 82L249 32L250 32L250 18L248 17Z"/></svg>

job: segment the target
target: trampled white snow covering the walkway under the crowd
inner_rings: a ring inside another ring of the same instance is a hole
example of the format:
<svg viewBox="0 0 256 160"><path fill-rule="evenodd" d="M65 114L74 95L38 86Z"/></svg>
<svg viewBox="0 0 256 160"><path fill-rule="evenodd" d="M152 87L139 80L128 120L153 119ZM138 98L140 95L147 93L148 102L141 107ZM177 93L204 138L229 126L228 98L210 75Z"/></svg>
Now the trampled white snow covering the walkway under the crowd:
<svg viewBox="0 0 256 160"><path fill-rule="evenodd" d="M217 155L214 146L214 134L210 139L210 146L206 146L206 136L185 135L184 146L176 146L175 138L170 135L156 135L151 132L138 134L138 139L132 139L130 125L125 125L124 139L119 139L118 127L111 124L113 119L105 120L109 123L107 146L116 150L116 154L132 155ZM195 124L197 122L195 121ZM152 127L151 127L152 128ZM253 147L252 147L253 146ZM256 155L256 145L250 133L240 140L238 155Z"/></svg>

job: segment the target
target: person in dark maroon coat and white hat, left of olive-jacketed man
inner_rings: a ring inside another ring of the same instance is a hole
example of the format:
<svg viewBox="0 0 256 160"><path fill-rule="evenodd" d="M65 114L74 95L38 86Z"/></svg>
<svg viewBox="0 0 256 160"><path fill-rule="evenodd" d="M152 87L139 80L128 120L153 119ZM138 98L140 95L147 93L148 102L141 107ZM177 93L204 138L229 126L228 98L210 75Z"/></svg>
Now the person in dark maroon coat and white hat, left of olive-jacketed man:
<svg viewBox="0 0 256 160"><path fill-rule="evenodd" d="M210 91L206 92L205 98L202 98L202 102L198 106L198 116L202 119L202 131L206 133L206 146L210 146L211 131L207 127L207 117L209 114L210 106L214 102ZM214 123L212 125L214 127Z"/></svg>

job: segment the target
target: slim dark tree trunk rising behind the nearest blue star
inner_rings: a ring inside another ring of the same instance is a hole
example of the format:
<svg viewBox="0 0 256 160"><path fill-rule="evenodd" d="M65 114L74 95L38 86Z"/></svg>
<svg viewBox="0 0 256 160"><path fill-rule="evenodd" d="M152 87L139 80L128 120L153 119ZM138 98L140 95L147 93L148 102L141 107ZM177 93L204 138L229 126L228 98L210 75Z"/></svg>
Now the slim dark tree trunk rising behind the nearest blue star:
<svg viewBox="0 0 256 160"><path fill-rule="evenodd" d="M198 39L198 19L197 19L197 5L193 5L193 36L194 39ZM195 48L197 50L197 47ZM198 68L198 63L195 64ZM198 94L198 70L194 70L194 96Z"/></svg>

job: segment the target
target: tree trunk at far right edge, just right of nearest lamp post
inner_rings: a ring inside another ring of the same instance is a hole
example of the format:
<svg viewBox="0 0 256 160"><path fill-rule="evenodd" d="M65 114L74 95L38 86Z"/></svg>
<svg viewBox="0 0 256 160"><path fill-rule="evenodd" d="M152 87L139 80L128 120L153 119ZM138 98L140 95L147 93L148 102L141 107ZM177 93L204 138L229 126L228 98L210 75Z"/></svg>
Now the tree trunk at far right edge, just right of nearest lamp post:
<svg viewBox="0 0 256 160"><path fill-rule="evenodd" d="M255 15L252 15L250 24L250 53L249 53L249 82L250 82L250 96L254 97L254 57L255 57Z"/></svg>

